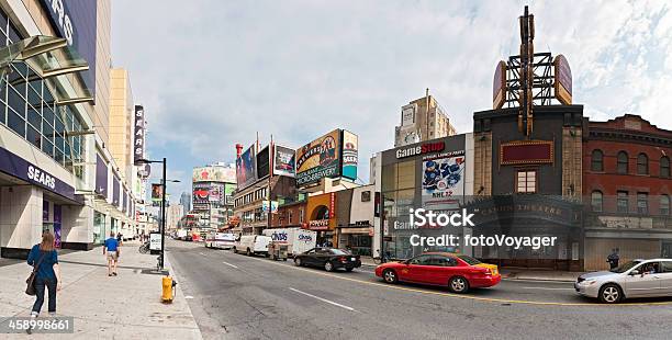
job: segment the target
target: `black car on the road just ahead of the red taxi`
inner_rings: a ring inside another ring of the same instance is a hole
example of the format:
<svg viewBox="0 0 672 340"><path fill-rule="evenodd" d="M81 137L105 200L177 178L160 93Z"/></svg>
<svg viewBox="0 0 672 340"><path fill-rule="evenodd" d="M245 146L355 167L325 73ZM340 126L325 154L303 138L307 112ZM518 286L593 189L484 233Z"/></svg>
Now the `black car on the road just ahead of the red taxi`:
<svg viewBox="0 0 672 340"><path fill-rule="evenodd" d="M313 248L306 252L294 257L295 265L310 265L324 268L327 272L332 272L339 268L345 268L350 272L354 269L361 267L359 256L351 254L347 250L334 248Z"/></svg>

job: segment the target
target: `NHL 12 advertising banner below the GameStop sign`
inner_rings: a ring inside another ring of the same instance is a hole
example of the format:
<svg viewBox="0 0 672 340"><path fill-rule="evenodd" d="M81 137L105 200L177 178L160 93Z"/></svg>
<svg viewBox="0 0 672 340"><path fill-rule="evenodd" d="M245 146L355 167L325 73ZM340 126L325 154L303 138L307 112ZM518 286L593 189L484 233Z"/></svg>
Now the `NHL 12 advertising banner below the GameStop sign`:
<svg viewBox="0 0 672 340"><path fill-rule="evenodd" d="M423 161L423 207L455 209L464 194L464 156L438 155Z"/></svg>

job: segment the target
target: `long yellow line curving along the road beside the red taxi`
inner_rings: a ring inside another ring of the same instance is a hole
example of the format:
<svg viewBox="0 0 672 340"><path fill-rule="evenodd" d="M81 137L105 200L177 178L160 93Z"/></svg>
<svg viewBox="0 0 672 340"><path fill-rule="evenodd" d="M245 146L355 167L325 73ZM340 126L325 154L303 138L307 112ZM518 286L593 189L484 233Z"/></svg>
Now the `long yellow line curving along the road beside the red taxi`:
<svg viewBox="0 0 672 340"><path fill-rule="evenodd" d="M259 260L259 261L264 261L264 262L270 263L270 264L283 265L281 263L267 261L266 259L260 259L260 258L248 258L248 259ZM362 280L357 280L357 279L350 279L350 277L345 277L345 276L340 276L340 275L335 275L335 274L331 274L331 273L322 273L322 272L317 272L317 271L314 271L314 270L310 270L310 269L305 269L305 268L300 268L300 267L291 267L291 265L284 265L284 267L293 268L295 270L305 271L305 272L309 272L309 273L313 273L315 275L323 275L323 276L329 276L329 277L335 277L335 279L345 280L345 281L351 281L351 282L358 282L358 283L362 283L362 284L376 285L376 286L385 287L385 288L389 288L389 290L397 290L397 291L406 291L406 292L421 293L421 294L439 295L439 296L446 296L446 297L452 297L452 298L474 299L474 301L482 301L482 302L490 302L490 303L524 304L524 305L538 305L538 306L570 306L570 307L574 307L574 306L583 306L583 307L612 307L612 306L618 307L618 306L623 306L623 307L626 307L626 306L670 306L670 305L672 305L672 302L598 304L598 303L556 303L556 302L536 302L536 301L525 301L525 299L506 299L506 298L479 297L479 296L472 296L472 295L458 295L458 294L452 294L452 293L423 291L423 290L417 290L417 288L410 288L410 287L403 287L403 286L397 286L397 285L391 285L391 284L381 283L381 282L362 281Z"/></svg>

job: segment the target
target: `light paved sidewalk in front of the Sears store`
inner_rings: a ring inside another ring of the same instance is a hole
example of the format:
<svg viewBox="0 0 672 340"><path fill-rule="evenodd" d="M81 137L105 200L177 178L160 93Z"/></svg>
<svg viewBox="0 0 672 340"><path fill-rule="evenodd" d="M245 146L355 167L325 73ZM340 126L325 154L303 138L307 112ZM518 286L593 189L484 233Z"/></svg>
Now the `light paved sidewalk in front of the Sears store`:
<svg viewBox="0 0 672 340"><path fill-rule="evenodd" d="M141 254L138 246L128 241L121 248L119 276L108 276L100 247L59 256L63 290L57 315L75 317L75 333L32 335L31 339L201 339L179 284L172 304L160 302L163 276L143 272L156 267L156 256ZM170 270L170 263L166 268ZM23 293L30 270L24 261L0 267L0 317L30 315L34 297ZM45 296L41 316L46 314ZM26 335L11 337L25 339Z"/></svg>

